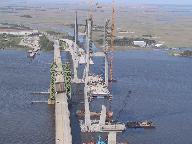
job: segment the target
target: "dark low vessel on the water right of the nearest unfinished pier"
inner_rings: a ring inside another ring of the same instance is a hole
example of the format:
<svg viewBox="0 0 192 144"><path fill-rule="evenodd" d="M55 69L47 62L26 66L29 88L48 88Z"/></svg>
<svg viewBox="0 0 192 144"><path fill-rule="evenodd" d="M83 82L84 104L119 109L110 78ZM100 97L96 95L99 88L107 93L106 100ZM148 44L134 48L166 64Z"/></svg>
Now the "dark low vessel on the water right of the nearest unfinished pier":
<svg viewBox="0 0 192 144"><path fill-rule="evenodd" d="M129 121L127 122L127 128L155 128L152 121Z"/></svg>

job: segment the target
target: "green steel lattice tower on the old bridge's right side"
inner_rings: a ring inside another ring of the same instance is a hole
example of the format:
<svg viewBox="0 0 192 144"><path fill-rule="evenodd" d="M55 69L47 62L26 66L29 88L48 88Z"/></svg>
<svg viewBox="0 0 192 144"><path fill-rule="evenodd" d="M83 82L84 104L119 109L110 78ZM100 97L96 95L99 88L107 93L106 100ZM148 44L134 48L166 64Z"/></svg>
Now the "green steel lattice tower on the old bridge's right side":
<svg viewBox="0 0 192 144"><path fill-rule="evenodd" d="M71 98L71 68L70 63L66 62L64 64L64 80L65 80L65 91L67 93L67 96Z"/></svg>

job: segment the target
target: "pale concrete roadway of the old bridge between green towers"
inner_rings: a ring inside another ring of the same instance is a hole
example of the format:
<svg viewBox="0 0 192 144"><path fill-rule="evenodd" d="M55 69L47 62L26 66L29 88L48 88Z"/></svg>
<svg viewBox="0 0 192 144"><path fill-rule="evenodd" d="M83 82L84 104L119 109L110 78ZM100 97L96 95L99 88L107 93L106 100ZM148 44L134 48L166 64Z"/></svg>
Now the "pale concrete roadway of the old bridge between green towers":
<svg viewBox="0 0 192 144"><path fill-rule="evenodd" d="M59 41L54 41L54 62L57 65L55 76L56 82L64 82L61 53ZM70 112L68 109L67 95L65 92L55 95L55 125L56 125L56 144L72 144L70 127Z"/></svg>

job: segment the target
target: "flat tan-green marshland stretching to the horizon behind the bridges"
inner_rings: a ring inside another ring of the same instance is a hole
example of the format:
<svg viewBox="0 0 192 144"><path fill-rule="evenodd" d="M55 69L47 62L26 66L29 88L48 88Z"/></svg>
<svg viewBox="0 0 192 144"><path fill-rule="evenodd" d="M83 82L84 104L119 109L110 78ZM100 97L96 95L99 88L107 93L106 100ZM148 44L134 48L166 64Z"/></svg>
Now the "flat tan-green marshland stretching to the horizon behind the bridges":
<svg viewBox="0 0 192 144"><path fill-rule="evenodd" d="M65 31L66 25L74 23L75 10L78 10L79 23L85 24L88 11L84 7L62 8L27 7L16 10L16 13L0 13L0 23L24 24L43 31ZM192 48L192 14L189 7L164 8L156 5L118 6L116 11L116 29L128 31L116 36L131 38L151 35L152 38L168 47ZM20 17L30 15L32 18ZM111 18L111 10L103 8L93 11L94 24L104 25ZM71 30L73 32L73 30ZM103 33L94 33L94 41L101 39Z"/></svg>

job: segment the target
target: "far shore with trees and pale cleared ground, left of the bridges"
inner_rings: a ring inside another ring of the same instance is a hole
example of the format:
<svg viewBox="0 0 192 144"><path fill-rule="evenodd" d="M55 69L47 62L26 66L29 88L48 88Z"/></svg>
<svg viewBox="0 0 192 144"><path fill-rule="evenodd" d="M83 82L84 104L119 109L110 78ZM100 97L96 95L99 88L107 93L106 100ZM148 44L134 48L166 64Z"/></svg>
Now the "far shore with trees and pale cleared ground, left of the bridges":
<svg viewBox="0 0 192 144"><path fill-rule="evenodd" d="M47 37L46 33L37 30L23 30L22 27L0 29L0 49L26 49L37 52L38 50L53 50L53 42Z"/></svg>

